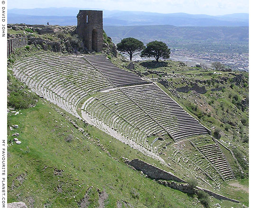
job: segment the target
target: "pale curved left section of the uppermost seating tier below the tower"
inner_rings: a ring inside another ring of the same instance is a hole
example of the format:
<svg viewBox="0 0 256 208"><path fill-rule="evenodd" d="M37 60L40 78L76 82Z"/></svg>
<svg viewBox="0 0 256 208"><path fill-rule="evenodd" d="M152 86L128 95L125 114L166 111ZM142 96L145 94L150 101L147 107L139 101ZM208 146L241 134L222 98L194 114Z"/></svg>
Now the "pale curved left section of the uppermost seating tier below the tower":
<svg viewBox="0 0 256 208"><path fill-rule="evenodd" d="M89 92L94 93L110 86L109 80L83 58L57 55L47 57L34 56L15 62L14 74L38 95L77 117L76 105L80 100ZM79 73L83 76L76 76ZM87 78L88 83L84 78Z"/></svg>

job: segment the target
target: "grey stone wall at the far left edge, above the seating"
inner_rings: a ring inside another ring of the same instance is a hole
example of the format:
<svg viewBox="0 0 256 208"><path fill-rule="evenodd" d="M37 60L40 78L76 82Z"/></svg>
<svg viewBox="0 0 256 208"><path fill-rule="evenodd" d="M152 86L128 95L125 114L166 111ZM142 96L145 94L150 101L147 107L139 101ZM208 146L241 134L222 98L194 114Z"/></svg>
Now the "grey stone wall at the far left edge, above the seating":
<svg viewBox="0 0 256 208"><path fill-rule="evenodd" d="M24 35L8 35L7 37L7 56L14 49L27 45L27 37Z"/></svg>

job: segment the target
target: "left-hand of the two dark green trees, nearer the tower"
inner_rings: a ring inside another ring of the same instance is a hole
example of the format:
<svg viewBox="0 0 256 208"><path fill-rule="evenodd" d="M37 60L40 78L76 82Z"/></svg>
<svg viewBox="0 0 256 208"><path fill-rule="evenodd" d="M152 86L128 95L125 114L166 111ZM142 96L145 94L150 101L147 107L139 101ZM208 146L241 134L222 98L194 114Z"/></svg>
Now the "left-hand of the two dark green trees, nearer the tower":
<svg viewBox="0 0 256 208"><path fill-rule="evenodd" d="M136 52L139 52L144 48L144 44L133 37L124 38L117 44L117 49L120 52L126 53L130 57L130 61L132 61L132 57L138 54Z"/></svg>

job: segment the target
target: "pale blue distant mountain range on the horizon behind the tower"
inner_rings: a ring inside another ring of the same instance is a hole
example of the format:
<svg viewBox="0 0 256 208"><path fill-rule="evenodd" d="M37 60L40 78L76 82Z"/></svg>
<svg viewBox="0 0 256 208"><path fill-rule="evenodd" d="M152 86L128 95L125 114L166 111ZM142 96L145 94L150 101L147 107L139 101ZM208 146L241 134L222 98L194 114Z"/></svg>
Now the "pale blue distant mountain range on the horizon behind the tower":
<svg viewBox="0 0 256 208"><path fill-rule="evenodd" d="M49 22L51 25L76 25L79 9L81 8L8 9L8 23L46 24ZM104 26L249 26L249 14L210 16L103 9L103 24Z"/></svg>

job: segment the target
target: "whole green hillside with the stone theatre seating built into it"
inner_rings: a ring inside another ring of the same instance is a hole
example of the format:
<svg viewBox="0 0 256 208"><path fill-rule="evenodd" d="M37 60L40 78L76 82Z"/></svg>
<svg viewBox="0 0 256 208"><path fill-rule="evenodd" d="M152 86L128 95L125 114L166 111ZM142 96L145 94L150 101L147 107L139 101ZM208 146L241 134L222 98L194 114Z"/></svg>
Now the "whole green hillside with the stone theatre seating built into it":
<svg viewBox="0 0 256 208"><path fill-rule="evenodd" d="M34 35L55 42L73 37ZM67 53L67 41L60 43L65 53L50 52L54 47L46 52L34 42L10 55L8 104L15 110L10 109L8 125L18 124L18 129L8 128L8 202L22 200L28 207L202 207L197 195L156 183L126 165L125 157L139 158L185 181L194 177L199 186L248 206L248 74L216 73L175 61L136 62L128 71L128 62L111 52L107 36L104 43L108 59ZM200 91L201 85L205 94L179 92L181 87ZM174 119L168 117L166 99L178 113ZM185 124L183 118L193 127L179 127L178 122ZM12 142L14 132L20 145ZM210 207L242 207L209 199Z"/></svg>

